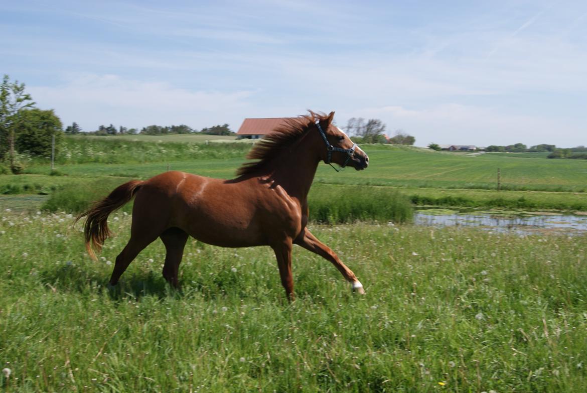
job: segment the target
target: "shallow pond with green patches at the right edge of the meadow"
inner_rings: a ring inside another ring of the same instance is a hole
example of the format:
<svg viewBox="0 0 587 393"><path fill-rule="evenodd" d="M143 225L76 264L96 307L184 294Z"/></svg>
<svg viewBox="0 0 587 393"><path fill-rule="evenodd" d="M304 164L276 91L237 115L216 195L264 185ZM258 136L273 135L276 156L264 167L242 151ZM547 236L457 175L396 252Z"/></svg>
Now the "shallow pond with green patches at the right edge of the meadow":
<svg viewBox="0 0 587 393"><path fill-rule="evenodd" d="M426 226L481 227L498 232L520 234L558 232L587 233L587 214L562 214L538 211L420 209L414 223Z"/></svg>

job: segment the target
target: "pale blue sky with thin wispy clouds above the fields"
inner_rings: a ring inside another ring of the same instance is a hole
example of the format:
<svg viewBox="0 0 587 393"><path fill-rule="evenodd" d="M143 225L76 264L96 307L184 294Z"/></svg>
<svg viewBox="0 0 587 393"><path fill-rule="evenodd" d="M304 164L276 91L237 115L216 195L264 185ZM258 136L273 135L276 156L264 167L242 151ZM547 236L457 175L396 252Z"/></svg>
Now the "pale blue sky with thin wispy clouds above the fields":
<svg viewBox="0 0 587 393"><path fill-rule="evenodd" d="M587 145L587 2L0 2L0 73L64 125L307 109L417 146Z"/></svg>

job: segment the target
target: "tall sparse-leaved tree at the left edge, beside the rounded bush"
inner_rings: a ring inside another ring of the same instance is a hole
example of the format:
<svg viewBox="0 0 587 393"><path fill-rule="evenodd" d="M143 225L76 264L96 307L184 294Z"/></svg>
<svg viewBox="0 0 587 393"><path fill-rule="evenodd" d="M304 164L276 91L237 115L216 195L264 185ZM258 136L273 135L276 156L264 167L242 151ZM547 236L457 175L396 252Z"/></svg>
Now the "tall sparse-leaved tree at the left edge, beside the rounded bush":
<svg viewBox="0 0 587 393"><path fill-rule="evenodd" d="M35 102L31 95L25 93L25 84L18 83L18 80L11 83L9 76L4 75L0 85L0 157L4 157L8 150L11 169L14 168L14 142L19 115L33 106Z"/></svg>

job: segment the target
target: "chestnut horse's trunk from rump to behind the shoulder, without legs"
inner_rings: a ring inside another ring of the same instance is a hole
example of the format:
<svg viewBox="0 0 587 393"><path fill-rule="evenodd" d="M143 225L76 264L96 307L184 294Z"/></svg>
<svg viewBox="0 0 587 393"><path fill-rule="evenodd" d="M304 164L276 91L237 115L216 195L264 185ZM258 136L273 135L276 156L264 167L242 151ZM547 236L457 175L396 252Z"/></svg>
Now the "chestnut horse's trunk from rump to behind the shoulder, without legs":
<svg viewBox="0 0 587 393"><path fill-rule="evenodd" d="M157 217L195 239L218 246L265 244L251 183L170 171L146 180L135 200L136 214Z"/></svg>

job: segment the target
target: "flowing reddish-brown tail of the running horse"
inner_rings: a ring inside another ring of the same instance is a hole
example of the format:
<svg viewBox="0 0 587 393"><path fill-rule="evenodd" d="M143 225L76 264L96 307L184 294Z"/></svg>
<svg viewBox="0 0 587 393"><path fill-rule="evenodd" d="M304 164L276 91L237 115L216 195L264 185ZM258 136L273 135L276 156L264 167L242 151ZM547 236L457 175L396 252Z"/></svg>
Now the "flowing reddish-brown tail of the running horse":
<svg viewBox="0 0 587 393"><path fill-rule="evenodd" d="M92 209L80 214L76 218L76 222L83 217L87 217L86 223L83 226L83 233L86 239L86 250L93 260L96 260L96 254L92 248L100 252L104 240L110 236L108 229L108 216L114 210L120 209L125 203L133 199L134 193L144 182L141 180L131 180L122 186L116 187L113 192L106 198L97 201Z"/></svg>

